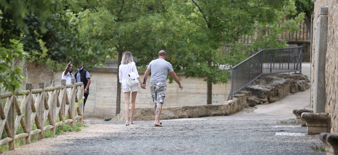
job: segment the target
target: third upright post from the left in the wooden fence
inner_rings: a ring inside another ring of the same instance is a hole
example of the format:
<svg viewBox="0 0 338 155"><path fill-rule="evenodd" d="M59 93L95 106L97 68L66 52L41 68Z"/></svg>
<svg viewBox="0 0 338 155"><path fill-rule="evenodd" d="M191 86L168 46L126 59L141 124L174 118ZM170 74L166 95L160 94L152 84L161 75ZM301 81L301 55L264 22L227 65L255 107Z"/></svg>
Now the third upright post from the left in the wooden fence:
<svg viewBox="0 0 338 155"><path fill-rule="evenodd" d="M40 102L38 104L38 120L40 122L40 128L42 131L37 134L38 140L43 139L43 128L45 126L45 120L44 120L44 110L45 110L45 83L44 82L39 82L39 89L42 89L42 92L38 95L41 95ZM38 126L37 126L38 127Z"/></svg>

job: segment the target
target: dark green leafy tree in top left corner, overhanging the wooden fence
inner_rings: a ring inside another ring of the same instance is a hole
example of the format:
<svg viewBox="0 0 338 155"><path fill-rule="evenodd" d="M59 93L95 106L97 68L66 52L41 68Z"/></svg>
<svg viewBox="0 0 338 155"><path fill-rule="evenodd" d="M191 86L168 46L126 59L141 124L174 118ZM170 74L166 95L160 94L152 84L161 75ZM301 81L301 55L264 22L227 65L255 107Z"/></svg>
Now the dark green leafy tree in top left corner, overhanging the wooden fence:
<svg viewBox="0 0 338 155"><path fill-rule="evenodd" d="M57 64L69 60L98 64L105 52L100 44L82 40L77 22L72 21L74 15L68 10L75 10L73 6L67 0L0 1L0 83L6 89L14 92L21 87L22 72L14 62L24 54L30 62L46 62L54 72Z"/></svg>

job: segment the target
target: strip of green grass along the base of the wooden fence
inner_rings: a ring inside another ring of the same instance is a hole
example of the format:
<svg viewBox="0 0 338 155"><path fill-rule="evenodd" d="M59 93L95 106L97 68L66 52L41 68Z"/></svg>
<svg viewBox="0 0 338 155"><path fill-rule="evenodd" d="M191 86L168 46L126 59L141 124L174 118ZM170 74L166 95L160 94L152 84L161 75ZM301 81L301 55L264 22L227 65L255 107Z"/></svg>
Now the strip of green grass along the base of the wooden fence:
<svg viewBox="0 0 338 155"><path fill-rule="evenodd" d="M47 125L47 123L46 123L46 125ZM62 125L60 125L59 127L57 127L55 129L55 134L53 134L53 132L50 132L49 130L44 131L43 137L45 139L45 138L50 138L50 137L56 137L56 135L60 135L60 134L62 134L64 132L73 132L73 131L79 132L79 131L82 130L83 127L88 127L88 125L87 124L80 124L78 122L75 122L74 126L70 126L69 124L62 124ZM35 123L34 123L34 127L33 128L36 129ZM23 132L22 128L19 127L19 129L17 131L17 134L18 133L22 133L22 132ZM2 135L2 136L3 137L7 137L6 135ZM30 138L31 138L30 139L31 143L35 142L35 141L38 141L37 134L31 135ZM22 145L25 145L24 139L19 139L19 140L15 141L15 147L22 146ZM5 151L7 151L8 148L9 148L8 144L4 144L4 145L0 146L0 153L3 153Z"/></svg>

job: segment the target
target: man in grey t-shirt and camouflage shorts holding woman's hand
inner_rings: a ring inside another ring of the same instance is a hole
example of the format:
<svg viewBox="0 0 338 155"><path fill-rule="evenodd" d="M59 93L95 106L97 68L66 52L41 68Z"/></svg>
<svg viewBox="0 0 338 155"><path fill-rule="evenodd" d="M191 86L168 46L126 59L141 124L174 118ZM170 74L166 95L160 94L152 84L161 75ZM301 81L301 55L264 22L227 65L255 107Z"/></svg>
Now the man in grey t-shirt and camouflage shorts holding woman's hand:
<svg viewBox="0 0 338 155"><path fill-rule="evenodd" d="M167 54L164 50L160 50L159 59L153 60L149 63L146 72L143 77L143 85L141 87L146 89L146 81L149 73L150 76L150 92L152 101L154 102L154 113L155 113L155 126L163 126L162 122L160 122L160 115L162 111L162 105L164 103L165 93L166 93L166 80L168 72L177 82L180 90L183 89L182 84L180 83L177 75L175 74L172 66L169 62L166 61Z"/></svg>

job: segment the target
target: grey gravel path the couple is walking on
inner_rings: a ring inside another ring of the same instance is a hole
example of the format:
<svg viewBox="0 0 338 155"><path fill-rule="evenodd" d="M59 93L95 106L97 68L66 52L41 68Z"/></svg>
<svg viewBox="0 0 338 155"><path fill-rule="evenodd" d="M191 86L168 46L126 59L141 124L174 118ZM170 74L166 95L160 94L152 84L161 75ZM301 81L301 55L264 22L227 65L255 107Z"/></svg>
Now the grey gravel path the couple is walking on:
<svg viewBox="0 0 338 155"><path fill-rule="evenodd" d="M306 127L277 121L281 120L176 119L163 120L164 127L154 127L152 121L131 126L91 121L81 132L43 139L4 154L324 154L309 148L323 145L318 135L276 136L276 132L306 133Z"/></svg>

